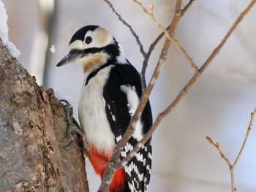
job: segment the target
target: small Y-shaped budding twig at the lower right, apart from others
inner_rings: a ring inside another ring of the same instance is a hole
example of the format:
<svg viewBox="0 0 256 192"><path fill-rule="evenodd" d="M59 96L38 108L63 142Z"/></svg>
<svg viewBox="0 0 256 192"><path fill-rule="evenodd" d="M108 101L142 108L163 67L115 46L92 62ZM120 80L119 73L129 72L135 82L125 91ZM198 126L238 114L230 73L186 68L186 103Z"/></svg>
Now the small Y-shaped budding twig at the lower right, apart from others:
<svg viewBox="0 0 256 192"><path fill-rule="evenodd" d="M227 162L227 165L229 166L230 168L230 176L231 176L231 188L232 188L232 192L235 192L236 191L236 188L235 188L235 177L234 177L234 169L235 169L235 166L241 156L241 154L243 153L243 150L244 150L244 147L246 145L246 141L249 137L249 133L250 131L252 130L252 122L253 122L253 119L255 118L255 113L256 113L256 108L253 112L251 112L251 119L250 119L250 122L249 122L249 126L247 128L247 131L246 131L246 135L244 137L244 142L243 142L243 145L241 146L241 149L236 157L236 160L234 161L233 165L230 164L230 161L225 157L225 155L222 153L222 150L219 149L219 142L217 142L216 144L212 141L212 139L210 137L206 137L207 141L211 144L211 145L214 145L214 147L217 148L217 150L219 151L219 155Z"/></svg>

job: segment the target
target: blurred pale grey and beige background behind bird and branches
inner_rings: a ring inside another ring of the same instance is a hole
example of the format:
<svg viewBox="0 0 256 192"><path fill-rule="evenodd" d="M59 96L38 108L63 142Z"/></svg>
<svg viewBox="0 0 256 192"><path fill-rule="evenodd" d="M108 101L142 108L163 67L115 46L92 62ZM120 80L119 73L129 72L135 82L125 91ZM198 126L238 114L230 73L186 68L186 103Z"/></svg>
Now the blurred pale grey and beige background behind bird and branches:
<svg viewBox="0 0 256 192"><path fill-rule="evenodd" d="M140 71L143 57L135 38L104 1L95 0L3 0L7 9L10 41L22 53L18 61L37 78L39 85L53 88L69 99L78 118L78 99L83 72L78 65L57 68L68 53L72 34L89 24L112 31L124 47L129 61ZM132 1L111 1L139 35L145 50L161 32ZM176 1L142 0L154 5L154 15L168 26ZM175 37L202 66L225 36L249 0L197 0L181 18ZM188 1L183 1L185 6ZM206 136L219 142L233 164L241 148L250 112L256 107L256 7L242 20L220 53L191 91L167 116L153 137L153 166L148 191L231 191L230 172ZM157 64L163 41L149 61L147 80ZM50 47L56 48L55 53ZM184 55L172 46L167 62L151 94L154 118L177 96L194 74ZM256 124L256 123L255 123ZM256 128L253 126L244 153L235 169L237 191L256 191ZM89 161L86 171L91 191L97 191L99 177Z"/></svg>

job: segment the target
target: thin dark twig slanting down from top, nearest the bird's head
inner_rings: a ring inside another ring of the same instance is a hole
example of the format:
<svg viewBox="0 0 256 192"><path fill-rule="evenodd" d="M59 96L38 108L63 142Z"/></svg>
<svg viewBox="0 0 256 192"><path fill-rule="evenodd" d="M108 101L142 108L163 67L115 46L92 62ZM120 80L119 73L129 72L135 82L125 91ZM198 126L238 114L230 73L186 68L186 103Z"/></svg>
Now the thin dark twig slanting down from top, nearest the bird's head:
<svg viewBox="0 0 256 192"><path fill-rule="evenodd" d="M141 53L141 54L143 55L143 57L145 58L146 52L144 51L143 45L142 45L142 43L140 42L140 39L139 39L138 35L137 35L137 34L135 33L135 31L133 30L132 26L129 25L129 24L127 23L127 21L125 21L125 20L121 17L121 15L116 11L116 9L113 7L113 4L110 3L110 1L108 1L108 0L104 0L104 1L108 4L108 6L112 9L112 11L116 14L116 16L118 17L118 20L120 20L121 23L124 24L124 26L127 26L127 27L129 28L129 31L130 31L131 34L135 37L136 42L137 42L137 44L138 44L139 47L140 47L140 53Z"/></svg>

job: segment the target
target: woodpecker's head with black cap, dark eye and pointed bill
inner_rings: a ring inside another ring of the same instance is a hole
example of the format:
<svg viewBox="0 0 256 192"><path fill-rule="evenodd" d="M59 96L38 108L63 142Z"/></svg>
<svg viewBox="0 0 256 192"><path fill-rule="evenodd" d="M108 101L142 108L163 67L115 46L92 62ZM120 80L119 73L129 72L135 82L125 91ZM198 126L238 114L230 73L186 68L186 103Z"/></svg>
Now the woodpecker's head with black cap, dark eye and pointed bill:
<svg viewBox="0 0 256 192"><path fill-rule="evenodd" d="M121 45L105 28L85 26L75 32L69 42L69 53L57 66L78 63L86 73L109 61L117 63L125 61Z"/></svg>

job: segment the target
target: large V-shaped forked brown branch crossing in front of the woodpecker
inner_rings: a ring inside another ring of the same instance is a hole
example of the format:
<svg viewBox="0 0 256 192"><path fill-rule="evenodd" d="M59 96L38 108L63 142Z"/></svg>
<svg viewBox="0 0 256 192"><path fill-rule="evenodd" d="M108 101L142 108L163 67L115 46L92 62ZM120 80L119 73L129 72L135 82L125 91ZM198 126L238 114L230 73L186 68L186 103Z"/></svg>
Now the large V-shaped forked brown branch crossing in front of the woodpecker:
<svg viewBox="0 0 256 192"><path fill-rule="evenodd" d="M238 24L241 22L241 20L244 18L244 16L247 14L247 12L249 12L249 10L253 7L253 5L255 4L255 1L256 0L253 0L251 2L251 4L249 4L249 6L246 7L244 12L242 12L241 15L239 15L238 19L233 24L233 26L230 28L230 30L227 32L224 39L222 39L222 42L220 42L220 44L215 48L215 50L211 53L211 55L208 57L206 62L203 64L203 66L201 66L201 68L198 70L198 72L195 73L195 75L187 83L187 85L181 90L181 92L178 94L178 96L176 96L176 99L174 99L174 101L163 112L159 113L159 115L157 116L157 119L154 121L153 126L150 128L148 133L145 135L145 140L149 139L152 136L152 133L157 128L157 126L159 125L162 118L164 118L167 114L169 114L173 110L174 107L176 107L178 102L181 101L181 99L185 96L185 94L187 94L187 91L189 91L189 89L192 87L192 85L195 84L197 79L200 77L200 74L202 74L205 71L207 66L214 59L214 57L219 53L219 50L221 50L221 48L223 47L223 45L225 44L227 39L230 37L230 35L235 30L236 26L238 26ZM178 13L178 12L180 12L180 8L181 8L181 0L177 0L176 14L174 15L173 22L171 23L171 26L168 29L168 33L171 35L174 34L176 24L178 23L178 20L181 17L181 14ZM135 131L135 125L138 122L138 120L140 119L141 112L143 111L144 107L146 106L146 102L148 101L148 96L151 93L152 89L154 88L155 82L157 81L157 77L159 76L159 72L161 71L163 64L165 64L165 60L167 57L167 50L169 49L169 47L170 47L170 39L167 38L167 39L165 39L165 45L162 49L162 53L160 54L159 61L157 63L154 74L151 77L151 81L148 84L148 88L146 88L146 91L143 92L143 96L140 99L140 104L138 106L138 109L135 111L134 116L130 120L129 126L128 126L127 131L125 132L123 138L121 139L120 142L118 142L118 144L116 145L116 147L114 149L113 156L110 159L108 168L106 169L106 172L102 179L102 183L98 190L100 192L108 191L110 183L113 180L113 175L115 174L115 172L117 170L114 165L118 164L118 159L119 159L121 151L124 149L124 146L128 142L129 138L132 136L133 132ZM140 148L142 146L143 145L138 146L138 150L140 150ZM132 155L135 155L135 153L133 151L131 152L131 154L129 154L129 156L132 157ZM123 162L123 164L125 164L125 162Z"/></svg>

